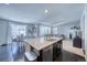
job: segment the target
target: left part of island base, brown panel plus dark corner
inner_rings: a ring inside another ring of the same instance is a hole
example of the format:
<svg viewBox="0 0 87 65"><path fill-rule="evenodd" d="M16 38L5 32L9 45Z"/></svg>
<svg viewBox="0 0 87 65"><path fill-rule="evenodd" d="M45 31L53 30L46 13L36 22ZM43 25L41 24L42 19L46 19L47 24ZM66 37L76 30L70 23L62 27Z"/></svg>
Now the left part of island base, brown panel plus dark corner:
<svg viewBox="0 0 87 65"><path fill-rule="evenodd" d="M53 45L40 51L39 62L53 62Z"/></svg>

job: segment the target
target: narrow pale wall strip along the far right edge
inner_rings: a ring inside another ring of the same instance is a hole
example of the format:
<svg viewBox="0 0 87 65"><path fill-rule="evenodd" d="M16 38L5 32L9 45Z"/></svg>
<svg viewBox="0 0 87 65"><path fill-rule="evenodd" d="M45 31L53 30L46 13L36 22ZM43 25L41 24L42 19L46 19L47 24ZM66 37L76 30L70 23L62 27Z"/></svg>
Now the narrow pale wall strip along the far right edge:
<svg viewBox="0 0 87 65"><path fill-rule="evenodd" d="M80 18L80 28L83 32L83 44L85 50L85 58L87 61L87 4L85 4L85 9L83 15Z"/></svg>

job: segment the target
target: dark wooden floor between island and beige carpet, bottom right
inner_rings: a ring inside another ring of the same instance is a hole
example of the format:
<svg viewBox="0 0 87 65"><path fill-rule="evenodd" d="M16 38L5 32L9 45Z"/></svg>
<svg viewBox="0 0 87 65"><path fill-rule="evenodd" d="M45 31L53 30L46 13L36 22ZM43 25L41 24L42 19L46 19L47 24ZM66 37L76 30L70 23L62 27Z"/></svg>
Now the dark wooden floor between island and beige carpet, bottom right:
<svg viewBox="0 0 87 65"><path fill-rule="evenodd" d="M85 62L85 58L67 51L63 51L62 54L57 56L55 62Z"/></svg>

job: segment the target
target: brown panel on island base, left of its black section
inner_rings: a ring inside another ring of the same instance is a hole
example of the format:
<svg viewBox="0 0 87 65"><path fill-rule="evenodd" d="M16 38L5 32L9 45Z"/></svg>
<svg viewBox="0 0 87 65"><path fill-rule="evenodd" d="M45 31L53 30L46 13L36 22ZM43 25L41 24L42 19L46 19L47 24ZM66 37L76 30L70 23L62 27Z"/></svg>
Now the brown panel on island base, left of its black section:
<svg viewBox="0 0 87 65"><path fill-rule="evenodd" d="M48 46L43 50L43 62L52 62L53 61L53 46Z"/></svg>

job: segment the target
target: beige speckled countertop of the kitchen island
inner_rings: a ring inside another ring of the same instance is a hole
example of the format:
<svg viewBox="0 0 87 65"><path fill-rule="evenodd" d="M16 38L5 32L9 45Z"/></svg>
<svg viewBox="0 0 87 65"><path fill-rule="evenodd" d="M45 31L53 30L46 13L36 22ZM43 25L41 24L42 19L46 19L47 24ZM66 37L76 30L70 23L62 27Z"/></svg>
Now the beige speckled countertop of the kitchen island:
<svg viewBox="0 0 87 65"><path fill-rule="evenodd" d="M63 37L51 37L51 40L45 40L44 37L40 37L40 39L28 39L25 40L25 42L34 47L37 51L43 50L46 46L50 46L58 41L63 40Z"/></svg>

